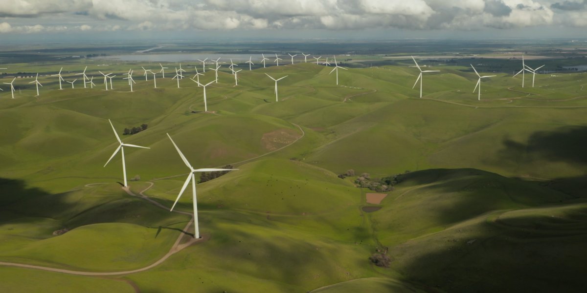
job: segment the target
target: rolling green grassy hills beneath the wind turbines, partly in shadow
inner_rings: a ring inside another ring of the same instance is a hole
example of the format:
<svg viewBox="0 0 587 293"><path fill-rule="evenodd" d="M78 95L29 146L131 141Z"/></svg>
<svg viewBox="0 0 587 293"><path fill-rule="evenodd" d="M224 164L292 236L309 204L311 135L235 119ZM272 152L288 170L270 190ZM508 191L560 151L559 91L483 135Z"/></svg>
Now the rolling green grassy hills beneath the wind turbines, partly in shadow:
<svg viewBox="0 0 587 293"><path fill-rule="evenodd" d="M43 87L36 97L33 79L16 79L16 98L5 85L0 93L0 291L585 288L584 73L537 74L534 88L527 75L522 88L510 73L517 61L421 59L441 72L424 74L419 98L409 57L355 63L339 71L339 86L332 67L288 60L239 64L238 86L221 63L208 112L202 88L171 79L177 64L164 64L157 88L140 67L158 71L158 62L8 64L2 82L39 72ZM481 100L470 62L497 75L481 83ZM93 89L77 80L59 90L50 76L63 67L65 80L80 79L85 66ZM195 66L182 64L186 77ZM129 68L133 92L122 80ZM104 90L98 70L116 74L114 89ZM278 102L265 73L288 76ZM124 150L127 190L120 155L104 167L117 147L108 119L123 142L150 148ZM166 134L194 168L238 168L198 183L198 241L191 190L169 211L188 169ZM339 178L349 169L355 175ZM363 173L397 175L394 190L357 188ZM367 203L367 193L387 196ZM53 234L60 229L69 231ZM378 267L369 257L383 251L390 263Z"/></svg>

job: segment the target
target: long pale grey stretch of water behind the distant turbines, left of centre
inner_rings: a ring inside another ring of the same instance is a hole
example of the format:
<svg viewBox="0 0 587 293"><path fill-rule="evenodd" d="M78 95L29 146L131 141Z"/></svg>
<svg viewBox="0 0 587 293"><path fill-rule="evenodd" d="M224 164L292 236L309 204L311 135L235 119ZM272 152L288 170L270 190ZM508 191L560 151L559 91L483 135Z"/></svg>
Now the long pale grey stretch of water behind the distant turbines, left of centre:
<svg viewBox="0 0 587 293"><path fill-rule="evenodd" d="M208 58L208 61L210 61L211 59L216 60L220 57L220 62L230 62L230 59L235 62L244 62L248 61L251 56L253 63L256 64L261 62L261 54L122 54L94 57L93 59L116 59L122 61L144 62L198 62L198 59L204 60ZM265 57L269 59L266 62L273 62L273 60L275 60L275 54L265 54ZM285 63L287 61L285 60L285 57L281 58L284 59L282 62Z"/></svg>

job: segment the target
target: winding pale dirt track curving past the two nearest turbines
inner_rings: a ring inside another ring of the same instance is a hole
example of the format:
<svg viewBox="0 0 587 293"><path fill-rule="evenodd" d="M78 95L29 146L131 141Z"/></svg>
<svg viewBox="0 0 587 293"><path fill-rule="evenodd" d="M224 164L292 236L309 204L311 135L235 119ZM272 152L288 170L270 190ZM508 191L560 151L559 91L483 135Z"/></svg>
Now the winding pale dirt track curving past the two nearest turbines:
<svg viewBox="0 0 587 293"><path fill-rule="evenodd" d="M267 152L265 154L259 155L259 156L255 156L254 158L250 158L250 159L246 159L244 161L240 161L240 162L236 162L236 163L232 163L231 165L237 165L239 163L244 163L244 162L248 162L248 161L252 161L258 158L261 158L262 156L266 156L269 154L273 154L274 152L277 151L281 151L282 149L289 147L292 144L295 144L295 142L299 141L299 139L303 138L304 135L306 134L306 132L303 131L302 127L300 127L298 124L294 124L296 125L296 127L299 128L299 130L302 132L302 135L298 138L295 139L295 141L293 141L291 144L285 145L284 147L281 147L279 149L275 149L274 151L271 152ZM161 180L161 179L167 179L167 178L174 178L177 176L183 176L184 174L181 175L175 175L175 176L168 176L165 178L159 178L159 179L153 179L151 181L154 180ZM161 205L160 203L156 202L155 200L151 199L149 196L144 195L144 192L146 192L147 190L149 190L151 187L153 187L154 183L153 182L147 182L149 183L149 186L147 186L147 188L141 190L139 192L139 195L136 195L134 192L132 192L129 188L122 188L126 193L128 193L131 196L136 196L139 197L141 199L147 200L147 202L152 203L153 205L160 207L161 209L164 210L168 210L169 207L166 207L164 205ZM90 187L93 185L100 185L100 184L106 184L106 183L90 183L90 184L86 184L85 187ZM184 227L184 231L187 230L191 224L194 222L194 217L193 214L191 213L187 213L187 212L181 212L178 210L174 210L174 213L179 213L179 214L185 214L187 216L191 216L191 220L187 223L187 225L185 225ZM160 259L158 259L157 261L155 261L154 263L147 265L146 267L143 268L137 268L136 270L129 270L129 271L113 271L113 272L92 272L92 271L74 271L74 270L65 270L62 268L52 268L52 267L43 267L42 265L31 265L31 264L19 264L19 263L6 263L4 261L0 261L0 265L5 265L8 267L21 267L21 268L32 268L35 270L43 270L43 271L51 271L51 272L62 272L63 274L71 274L71 275L85 275L85 276L112 276L112 275L126 275L126 274L134 274L135 272L142 272L142 271L146 271L149 270L150 268L156 267L157 265L163 263L164 261L167 260L167 258L169 258L171 255L177 253L178 251L183 250L184 248L191 246L192 244L195 243L199 243L201 241L205 241L210 239L210 236L204 235L203 238L201 239L189 239L187 242L185 243L181 243L181 240L184 237L188 237L185 236L185 234L181 233L180 236L177 237L176 242L173 244L173 246L171 246L170 250L168 251L167 254L163 255L163 257L161 257ZM181 244L180 244L181 243Z"/></svg>

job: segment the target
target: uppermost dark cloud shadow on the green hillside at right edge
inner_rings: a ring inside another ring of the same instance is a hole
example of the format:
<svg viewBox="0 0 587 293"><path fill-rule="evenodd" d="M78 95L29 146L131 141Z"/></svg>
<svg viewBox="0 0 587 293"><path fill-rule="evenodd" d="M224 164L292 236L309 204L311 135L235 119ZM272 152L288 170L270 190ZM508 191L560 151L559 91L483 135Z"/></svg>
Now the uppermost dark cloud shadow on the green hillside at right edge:
<svg viewBox="0 0 587 293"><path fill-rule="evenodd" d="M587 165L585 126L565 126L554 131L535 132L526 144L511 139L504 139L503 144L504 148L498 153L501 162L519 162L524 158Z"/></svg>

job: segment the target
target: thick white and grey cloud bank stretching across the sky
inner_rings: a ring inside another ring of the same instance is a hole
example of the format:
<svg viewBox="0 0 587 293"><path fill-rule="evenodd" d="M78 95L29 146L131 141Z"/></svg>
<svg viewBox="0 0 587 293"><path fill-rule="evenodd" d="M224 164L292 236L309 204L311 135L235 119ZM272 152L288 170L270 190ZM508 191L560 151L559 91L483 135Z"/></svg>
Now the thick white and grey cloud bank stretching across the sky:
<svg viewBox="0 0 587 293"><path fill-rule="evenodd" d="M586 26L587 0L11 0L0 33ZM43 28L29 26L35 19ZM12 27L10 26L12 25Z"/></svg>

